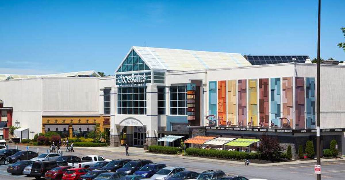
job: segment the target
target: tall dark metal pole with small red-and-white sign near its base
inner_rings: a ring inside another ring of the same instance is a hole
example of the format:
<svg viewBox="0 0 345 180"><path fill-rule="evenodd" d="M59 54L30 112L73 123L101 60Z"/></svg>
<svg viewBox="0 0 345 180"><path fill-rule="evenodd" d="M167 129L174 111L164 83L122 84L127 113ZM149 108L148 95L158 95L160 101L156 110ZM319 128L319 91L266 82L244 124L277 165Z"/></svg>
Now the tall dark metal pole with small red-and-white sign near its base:
<svg viewBox="0 0 345 180"><path fill-rule="evenodd" d="M318 22L317 22L317 77L316 77L316 148L317 148L317 160L316 164L321 165L321 132L320 132L320 21L321 21L321 0L319 0L319 8L318 8ZM321 174L316 174L316 179L321 180Z"/></svg>

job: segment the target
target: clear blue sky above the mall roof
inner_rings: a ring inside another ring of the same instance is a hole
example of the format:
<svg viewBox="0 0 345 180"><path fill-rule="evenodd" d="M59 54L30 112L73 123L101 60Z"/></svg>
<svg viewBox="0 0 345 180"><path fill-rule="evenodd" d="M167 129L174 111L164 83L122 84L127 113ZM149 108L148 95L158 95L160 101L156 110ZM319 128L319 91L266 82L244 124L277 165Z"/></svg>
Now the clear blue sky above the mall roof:
<svg viewBox="0 0 345 180"><path fill-rule="evenodd" d="M322 2L321 57L345 60L345 1ZM317 0L0 1L0 74L114 74L131 46L316 56Z"/></svg>

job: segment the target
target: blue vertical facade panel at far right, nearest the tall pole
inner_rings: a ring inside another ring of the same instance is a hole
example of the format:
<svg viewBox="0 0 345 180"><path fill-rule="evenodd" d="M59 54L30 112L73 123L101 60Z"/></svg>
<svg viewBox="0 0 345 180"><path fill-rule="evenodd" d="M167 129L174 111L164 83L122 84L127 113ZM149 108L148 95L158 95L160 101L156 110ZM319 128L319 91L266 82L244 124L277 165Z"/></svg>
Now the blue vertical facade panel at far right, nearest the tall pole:
<svg viewBox="0 0 345 180"><path fill-rule="evenodd" d="M306 89L306 125L307 128L315 128L315 78L307 77L305 80Z"/></svg>

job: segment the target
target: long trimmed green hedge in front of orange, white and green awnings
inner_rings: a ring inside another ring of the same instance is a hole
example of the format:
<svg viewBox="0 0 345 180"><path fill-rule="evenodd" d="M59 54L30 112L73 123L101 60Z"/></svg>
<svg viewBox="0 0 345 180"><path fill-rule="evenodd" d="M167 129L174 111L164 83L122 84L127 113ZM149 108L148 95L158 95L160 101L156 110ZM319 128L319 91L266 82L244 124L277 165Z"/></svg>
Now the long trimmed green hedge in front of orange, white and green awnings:
<svg viewBox="0 0 345 180"><path fill-rule="evenodd" d="M224 159L259 159L260 153L258 152L239 152L215 149L198 149L187 148L186 155L201 156L201 157L214 157Z"/></svg>

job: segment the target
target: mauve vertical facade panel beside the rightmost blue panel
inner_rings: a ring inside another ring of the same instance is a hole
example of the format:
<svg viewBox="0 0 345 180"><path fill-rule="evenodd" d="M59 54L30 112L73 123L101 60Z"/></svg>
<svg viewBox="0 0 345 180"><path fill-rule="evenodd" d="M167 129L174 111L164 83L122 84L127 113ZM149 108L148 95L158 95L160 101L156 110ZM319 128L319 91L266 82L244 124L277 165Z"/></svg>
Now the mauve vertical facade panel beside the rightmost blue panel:
<svg viewBox="0 0 345 180"><path fill-rule="evenodd" d="M295 77L295 128L305 128L304 77Z"/></svg>

